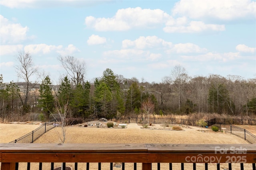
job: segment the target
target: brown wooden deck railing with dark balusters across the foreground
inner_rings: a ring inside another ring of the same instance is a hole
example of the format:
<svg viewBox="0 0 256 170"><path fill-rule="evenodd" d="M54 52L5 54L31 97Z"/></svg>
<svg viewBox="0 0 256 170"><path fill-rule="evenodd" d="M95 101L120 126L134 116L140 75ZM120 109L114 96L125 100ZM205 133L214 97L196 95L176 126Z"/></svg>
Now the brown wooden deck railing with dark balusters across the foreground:
<svg viewBox="0 0 256 170"><path fill-rule="evenodd" d="M39 162L39 169L42 169L40 162L75 162L74 169L78 169L77 162L134 162L142 163L142 170L151 170L152 163L169 163L169 170L172 163L193 164L217 163L216 169L220 169L220 163L240 163L240 169L244 169L244 164L249 163L252 170L256 163L256 144L212 144L212 145L192 145L192 144L38 144L38 143L1 143L0 144L1 170L18 169L17 162ZM89 163L87 163L89 165ZM100 163L98 164L100 169ZM110 163L110 170L113 164ZM89 166L86 169L89 169ZM136 164L134 164L136 170ZM237 168L235 168L237 169ZM122 168L124 170L124 167Z"/></svg>

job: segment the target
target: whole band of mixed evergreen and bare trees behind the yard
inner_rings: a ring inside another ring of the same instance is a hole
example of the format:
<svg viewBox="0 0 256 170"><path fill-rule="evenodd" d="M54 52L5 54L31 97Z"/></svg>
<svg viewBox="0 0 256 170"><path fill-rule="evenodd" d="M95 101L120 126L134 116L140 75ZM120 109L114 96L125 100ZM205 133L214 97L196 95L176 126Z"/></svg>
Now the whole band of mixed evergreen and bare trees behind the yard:
<svg viewBox="0 0 256 170"><path fill-rule="evenodd" d="M256 78L216 74L191 77L177 65L160 83L124 78L110 68L88 82L85 62L72 56L59 56L58 60L66 70L58 85L52 85L49 75L32 83L30 79L38 68L30 53L20 52L16 71L24 82L4 83L0 76L0 117L10 119L32 112L49 117L65 109L69 117L82 118L140 113L256 114Z"/></svg>

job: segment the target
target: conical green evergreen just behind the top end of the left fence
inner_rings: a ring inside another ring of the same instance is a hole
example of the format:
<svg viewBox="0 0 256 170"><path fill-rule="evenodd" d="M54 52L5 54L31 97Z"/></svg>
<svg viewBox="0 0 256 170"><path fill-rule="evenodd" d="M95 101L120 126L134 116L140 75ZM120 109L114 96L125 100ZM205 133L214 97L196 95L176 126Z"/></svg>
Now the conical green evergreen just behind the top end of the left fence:
<svg viewBox="0 0 256 170"><path fill-rule="evenodd" d="M46 116L49 118L50 113L54 109L54 97L52 95L52 87L51 87L51 80L49 76L46 76L44 80L42 81L42 84L40 84L39 89L39 97L38 100L39 104L38 106L42 108L42 111L44 111Z"/></svg>

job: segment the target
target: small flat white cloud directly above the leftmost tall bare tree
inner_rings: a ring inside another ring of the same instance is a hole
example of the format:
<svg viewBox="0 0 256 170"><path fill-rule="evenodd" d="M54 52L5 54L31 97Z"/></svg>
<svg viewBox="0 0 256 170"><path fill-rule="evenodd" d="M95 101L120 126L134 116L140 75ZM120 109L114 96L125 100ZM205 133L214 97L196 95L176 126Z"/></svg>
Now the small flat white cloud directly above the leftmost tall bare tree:
<svg viewBox="0 0 256 170"><path fill-rule="evenodd" d="M46 45L46 44L31 44L26 45L24 47L24 51L28 51L29 53L36 54L36 53L50 53L51 51L56 51L62 49L62 45Z"/></svg>

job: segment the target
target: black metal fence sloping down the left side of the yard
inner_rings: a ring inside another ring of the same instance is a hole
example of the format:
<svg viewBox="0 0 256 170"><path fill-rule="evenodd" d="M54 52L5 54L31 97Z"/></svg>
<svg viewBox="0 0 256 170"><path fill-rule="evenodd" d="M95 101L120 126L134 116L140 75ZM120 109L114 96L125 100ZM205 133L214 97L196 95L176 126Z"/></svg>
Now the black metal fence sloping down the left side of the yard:
<svg viewBox="0 0 256 170"><path fill-rule="evenodd" d="M9 143L33 143L36 139L42 136L44 133L49 131L50 129L54 128L56 125L55 121L54 124L52 122L44 123L40 127L36 128L34 131L15 139Z"/></svg>

